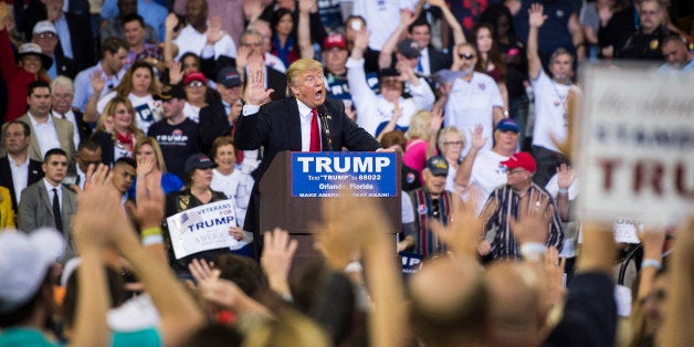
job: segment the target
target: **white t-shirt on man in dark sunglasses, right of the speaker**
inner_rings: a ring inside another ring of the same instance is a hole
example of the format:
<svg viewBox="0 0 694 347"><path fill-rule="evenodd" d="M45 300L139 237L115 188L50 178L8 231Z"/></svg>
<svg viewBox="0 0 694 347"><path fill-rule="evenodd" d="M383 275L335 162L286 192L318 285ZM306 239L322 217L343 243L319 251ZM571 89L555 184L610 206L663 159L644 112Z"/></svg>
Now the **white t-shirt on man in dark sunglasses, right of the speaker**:
<svg viewBox="0 0 694 347"><path fill-rule="evenodd" d="M482 124L482 135L486 137L483 149L492 149L494 132L494 107L504 107L502 94L494 78L486 74L473 72L470 82L455 78L445 103L445 126L455 126L463 134L472 134L475 125ZM461 158L470 151L470 141Z"/></svg>

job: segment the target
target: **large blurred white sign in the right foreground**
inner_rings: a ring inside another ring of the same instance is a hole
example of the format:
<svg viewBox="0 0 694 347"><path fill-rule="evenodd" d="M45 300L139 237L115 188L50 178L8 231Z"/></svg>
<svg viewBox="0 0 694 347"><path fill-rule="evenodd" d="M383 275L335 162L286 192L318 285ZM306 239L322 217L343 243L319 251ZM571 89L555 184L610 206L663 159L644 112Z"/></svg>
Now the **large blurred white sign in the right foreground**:
<svg viewBox="0 0 694 347"><path fill-rule="evenodd" d="M694 207L694 74L589 66L583 75L574 144L581 218L677 223Z"/></svg>

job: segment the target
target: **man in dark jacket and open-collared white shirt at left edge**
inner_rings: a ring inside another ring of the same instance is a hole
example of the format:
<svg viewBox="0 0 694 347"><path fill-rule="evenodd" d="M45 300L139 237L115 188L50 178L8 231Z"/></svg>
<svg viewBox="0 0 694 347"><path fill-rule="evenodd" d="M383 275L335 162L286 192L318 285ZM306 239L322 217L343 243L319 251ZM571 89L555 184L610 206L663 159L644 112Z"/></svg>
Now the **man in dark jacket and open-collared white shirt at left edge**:
<svg viewBox="0 0 694 347"><path fill-rule="evenodd" d="M8 155L0 158L0 186L10 190L12 210L17 211L22 190L41 180L43 170L41 161L29 158L31 127L27 123L20 120L8 123L3 136L2 145Z"/></svg>

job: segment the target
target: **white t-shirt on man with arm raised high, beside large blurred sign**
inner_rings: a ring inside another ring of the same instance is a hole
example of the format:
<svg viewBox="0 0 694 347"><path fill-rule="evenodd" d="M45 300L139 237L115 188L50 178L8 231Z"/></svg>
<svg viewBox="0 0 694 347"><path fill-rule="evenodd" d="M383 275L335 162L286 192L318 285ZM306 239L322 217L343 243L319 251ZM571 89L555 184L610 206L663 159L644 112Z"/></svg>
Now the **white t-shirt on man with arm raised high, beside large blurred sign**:
<svg viewBox="0 0 694 347"><path fill-rule="evenodd" d="M569 90L576 86L556 83L545 71L540 71L537 80L532 80L530 83L535 93L533 146L559 151L555 141L560 144L566 140L566 103Z"/></svg>

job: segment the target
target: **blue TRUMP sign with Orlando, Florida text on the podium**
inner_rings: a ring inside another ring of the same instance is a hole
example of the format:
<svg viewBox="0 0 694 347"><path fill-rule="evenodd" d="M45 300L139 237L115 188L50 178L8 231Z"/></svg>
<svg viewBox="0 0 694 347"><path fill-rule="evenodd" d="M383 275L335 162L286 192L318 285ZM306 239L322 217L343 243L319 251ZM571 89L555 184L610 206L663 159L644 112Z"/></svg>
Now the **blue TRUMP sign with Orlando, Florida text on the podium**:
<svg viewBox="0 0 694 347"><path fill-rule="evenodd" d="M395 153L292 153L292 196L398 197Z"/></svg>

